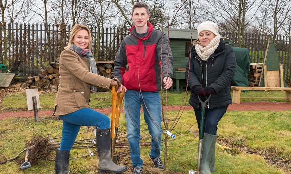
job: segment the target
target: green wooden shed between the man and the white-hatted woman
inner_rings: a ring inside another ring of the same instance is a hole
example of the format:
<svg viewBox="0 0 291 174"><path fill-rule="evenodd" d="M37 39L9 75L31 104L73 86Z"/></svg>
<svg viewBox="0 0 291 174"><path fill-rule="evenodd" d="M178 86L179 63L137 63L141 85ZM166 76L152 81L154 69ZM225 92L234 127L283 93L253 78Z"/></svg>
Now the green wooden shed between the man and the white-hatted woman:
<svg viewBox="0 0 291 174"><path fill-rule="evenodd" d="M174 74L171 90L179 92L179 88L186 87L185 68L189 58L189 51L192 47L191 41L198 38L197 30L172 28L168 30L168 28L163 28L163 32L169 33L170 48L173 54Z"/></svg>

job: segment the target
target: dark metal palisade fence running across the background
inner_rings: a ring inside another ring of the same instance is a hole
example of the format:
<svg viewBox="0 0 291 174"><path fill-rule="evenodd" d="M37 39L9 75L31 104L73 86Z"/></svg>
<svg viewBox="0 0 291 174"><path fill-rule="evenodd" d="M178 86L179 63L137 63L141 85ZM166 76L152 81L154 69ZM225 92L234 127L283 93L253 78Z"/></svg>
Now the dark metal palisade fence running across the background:
<svg viewBox="0 0 291 174"><path fill-rule="evenodd" d="M1 24L1 23L0 23ZM2 25L1 25L2 26ZM8 39L8 69L17 60L22 61L22 71L28 75L35 75L43 62L49 61L48 34L43 24L18 24L6 25ZM61 32L63 30L64 32ZM56 60L69 40L71 26L49 25L48 33L51 40L51 60ZM91 27L93 37L92 53L96 60L113 61L122 39L128 34L128 28L97 28ZM62 34L64 33L64 34ZM221 33L234 41L237 45L236 33ZM262 63L268 43L268 35L246 34L243 47L249 50L252 63ZM3 28L0 28L0 56L4 53ZM279 62L283 64L284 77L290 80L291 76L291 44L290 37L278 35L274 40ZM63 45L63 46L62 46Z"/></svg>

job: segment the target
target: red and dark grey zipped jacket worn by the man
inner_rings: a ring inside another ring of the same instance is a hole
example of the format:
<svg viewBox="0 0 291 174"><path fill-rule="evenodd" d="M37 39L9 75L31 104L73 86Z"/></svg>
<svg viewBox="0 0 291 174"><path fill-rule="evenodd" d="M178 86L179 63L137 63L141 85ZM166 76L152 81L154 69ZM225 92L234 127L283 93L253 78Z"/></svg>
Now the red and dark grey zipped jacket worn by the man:
<svg viewBox="0 0 291 174"><path fill-rule="evenodd" d="M135 25L130 28L116 54L113 72L129 90L154 92L161 90L161 77L173 77L172 63L167 35L148 22L148 33L142 38L137 36Z"/></svg>

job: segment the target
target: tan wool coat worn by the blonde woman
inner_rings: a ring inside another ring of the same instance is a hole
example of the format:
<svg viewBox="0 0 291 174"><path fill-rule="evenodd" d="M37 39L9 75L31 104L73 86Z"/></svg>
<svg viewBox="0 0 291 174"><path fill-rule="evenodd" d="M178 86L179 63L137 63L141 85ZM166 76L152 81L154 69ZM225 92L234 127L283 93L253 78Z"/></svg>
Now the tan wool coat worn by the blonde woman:
<svg viewBox="0 0 291 174"><path fill-rule="evenodd" d="M89 58L80 57L66 49L59 61L60 84L53 115L65 115L81 108L89 108L91 84L109 88L111 79L90 72Z"/></svg>

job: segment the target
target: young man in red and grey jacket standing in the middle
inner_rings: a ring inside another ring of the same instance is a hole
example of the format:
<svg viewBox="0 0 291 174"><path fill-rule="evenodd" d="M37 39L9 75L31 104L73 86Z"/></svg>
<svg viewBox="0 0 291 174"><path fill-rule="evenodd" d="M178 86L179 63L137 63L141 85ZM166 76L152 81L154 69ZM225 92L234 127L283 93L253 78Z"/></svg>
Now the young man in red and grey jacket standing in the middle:
<svg viewBox="0 0 291 174"><path fill-rule="evenodd" d="M125 117L130 155L134 167L133 173L142 173L143 166L139 147L141 105L151 135L149 156L156 168L164 169L160 158L162 117L159 91L161 90L161 77L165 89L169 89L173 84L173 57L171 49L168 49L167 35L154 29L148 22L149 13L146 3L136 2L133 5L131 18L134 26L130 29L130 34L122 40L114 62L114 77L118 78L122 84L119 92L122 88L126 92L124 95ZM161 47L163 48L161 49Z"/></svg>

